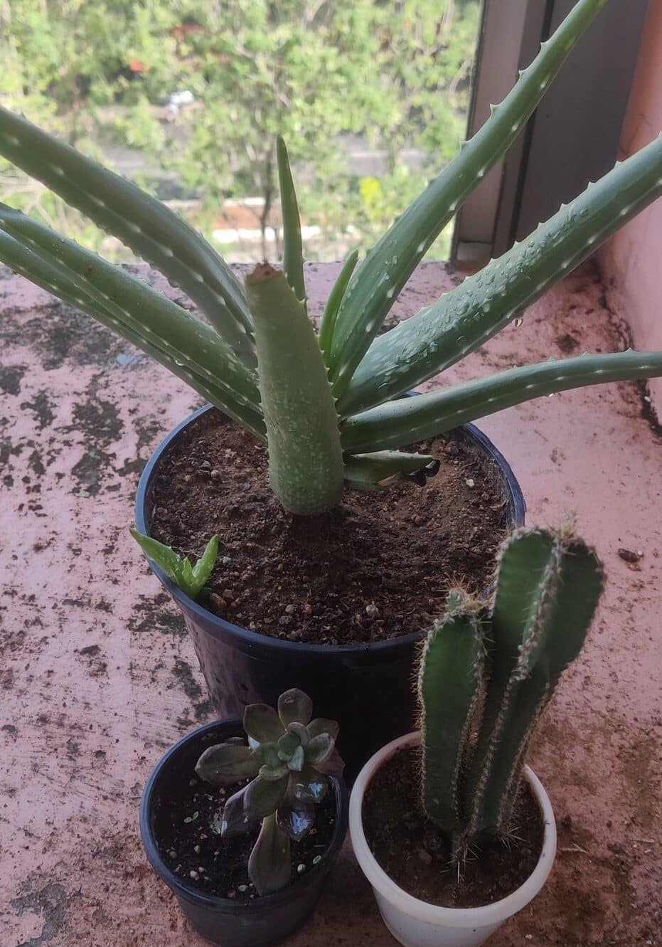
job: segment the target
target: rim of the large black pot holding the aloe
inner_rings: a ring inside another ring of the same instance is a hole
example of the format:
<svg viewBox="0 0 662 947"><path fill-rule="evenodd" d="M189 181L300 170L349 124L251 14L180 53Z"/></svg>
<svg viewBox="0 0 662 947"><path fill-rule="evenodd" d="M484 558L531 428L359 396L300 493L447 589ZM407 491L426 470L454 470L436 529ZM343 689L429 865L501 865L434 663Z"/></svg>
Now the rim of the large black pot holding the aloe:
<svg viewBox="0 0 662 947"><path fill-rule="evenodd" d="M172 441L174 441L181 434L181 432L188 427L190 423L212 409L213 405L206 403L199 407L196 411L193 411L192 414L188 415L187 418L180 421L179 424L173 427L170 433L167 434L163 440L161 440L161 442L152 452L152 456L143 468L142 474L140 474L138 488L135 493L135 526L140 532L149 533L149 527L147 523L147 503L150 496L152 481L157 473L161 458L167 452ZM504 488L508 495L509 506L513 514L515 526L523 526L527 506L525 503L524 494L522 493L520 485L515 479L515 475L512 473L510 464L506 458L494 447L490 438L484 435L482 431L478 430L474 424L462 424L455 430L462 430L468 434L469 439L473 440L474 443L477 443L496 462L499 470L503 474ZM231 621L226 621L224 618L214 615L213 612L209 612L206 608L203 608L203 606L194 599L189 599L188 595L185 595L179 586L171 581L165 572L163 572L158 567L158 565L156 565L156 563L152 563L151 560L148 560L148 562L150 563L150 568L152 569L152 572L155 574L156 578L161 582L162 585L165 586L172 599L177 602L177 604L185 613L192 612L198 618L203 619L206 623L212 626L214 632L216 633L229 633L235 637L238 637L248 648L255 646L264 647L265 640L267 640L270 647L276 648L277 650L283 652L296 652L299 655L331 653L342 654L343 652L357 653L368 651L393 652L398 648L406 651L414 642L422 640L425 634L427 634L425 629L421 629L418 632L410 632L409 634L403 634L400 637L389 638L384 641L355 642L344 645L324 645L309 644L308 642L302 641L288 641L284 638L277 638L267 634L260 634L259 632L252 632L247 628L242 628L241 625L235 625Z"/></svg>

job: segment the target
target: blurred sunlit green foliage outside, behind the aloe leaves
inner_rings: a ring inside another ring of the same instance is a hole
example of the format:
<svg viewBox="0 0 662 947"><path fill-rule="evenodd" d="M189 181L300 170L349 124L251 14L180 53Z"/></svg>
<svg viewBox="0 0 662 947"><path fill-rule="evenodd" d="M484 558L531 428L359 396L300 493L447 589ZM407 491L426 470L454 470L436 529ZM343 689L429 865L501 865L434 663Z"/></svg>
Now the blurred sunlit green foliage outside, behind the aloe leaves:
<svg viewBox="0 0 662 947"><path fill-rule="evenodd" d="M479 15L478 0L0 0L0 98L104 160L141 152L134 177L159 193L176 178L196 225L258 198L264 255L283 134L302 214L337 253L373 241L456 152ZM369 175L349 142L377 152ZM5 200L69 223L3 179Z"/></svg>

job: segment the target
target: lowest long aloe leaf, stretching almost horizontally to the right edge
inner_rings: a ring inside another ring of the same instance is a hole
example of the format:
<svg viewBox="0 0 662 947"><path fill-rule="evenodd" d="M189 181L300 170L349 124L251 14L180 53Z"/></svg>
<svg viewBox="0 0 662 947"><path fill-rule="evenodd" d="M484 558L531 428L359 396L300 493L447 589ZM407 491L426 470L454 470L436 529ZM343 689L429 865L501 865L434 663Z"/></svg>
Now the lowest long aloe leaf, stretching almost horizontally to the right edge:
<svg viewBox="0 0 662 947"><path fill-rule="evenodd" d="M355 415L343 425L343 447L359 454L389 450L412 441L434 438L459 424L556 391L660 375L662 351L586 354L510 368L487 378L431 391L418 398L387 402Z"/></svg>

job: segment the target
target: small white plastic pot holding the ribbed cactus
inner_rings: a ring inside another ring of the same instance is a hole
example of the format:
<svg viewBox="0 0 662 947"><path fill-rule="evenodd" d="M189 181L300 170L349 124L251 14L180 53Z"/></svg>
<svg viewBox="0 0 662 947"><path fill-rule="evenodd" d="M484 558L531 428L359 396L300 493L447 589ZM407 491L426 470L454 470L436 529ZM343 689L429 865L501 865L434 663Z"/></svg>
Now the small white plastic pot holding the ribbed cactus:
<svg viewBox="0 0 662 947"><path fill-rule="evenodd" d="M538 894L547 880L556 854L554 813L543 786L528 768L525 778L545 819L543 850L527 881L501 901L483 907L438 907L403 891L370 851L361 813L370 779L385 759L406 746L420 745L420 733L409 733L383 747L359 773L349 799L349 835L356 860L372 885L385 925L404 947L477 947Z"/></svg>

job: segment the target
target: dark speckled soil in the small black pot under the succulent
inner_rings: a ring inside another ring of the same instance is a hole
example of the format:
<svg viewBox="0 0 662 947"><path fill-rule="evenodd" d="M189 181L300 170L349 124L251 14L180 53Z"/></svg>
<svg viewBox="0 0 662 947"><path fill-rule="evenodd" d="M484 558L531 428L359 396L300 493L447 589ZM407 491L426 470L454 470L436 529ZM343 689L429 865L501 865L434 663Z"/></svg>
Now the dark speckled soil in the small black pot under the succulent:
<svg viewBox="0 0 662 947"><path fill-rule="evenodd" d="M248 856L258 838L259 824L234 838L220 834L225 799L250 780L234 786L211 786L188 766L171 779L155 821L156 844L166 864L187 884L207 894L238 901L259 897L248 877ZM290 884L318 863L329 848L334 828L335 802L330 790L315 806L314 828L300 842L292 842Z"/></svg>

